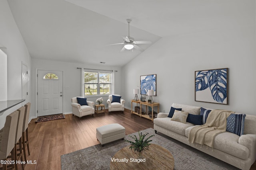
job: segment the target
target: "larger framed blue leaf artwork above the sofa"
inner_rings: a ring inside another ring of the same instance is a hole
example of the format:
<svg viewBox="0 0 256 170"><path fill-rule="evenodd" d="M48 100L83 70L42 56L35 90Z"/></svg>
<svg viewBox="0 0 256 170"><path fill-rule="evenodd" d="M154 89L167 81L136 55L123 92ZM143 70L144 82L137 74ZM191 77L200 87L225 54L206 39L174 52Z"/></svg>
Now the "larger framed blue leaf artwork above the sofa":
<svg viewBox="0 0 256 170"><path fill-rule="evenodd" d="M228 104L228 68L195 71L195 101Z"/></svg>

